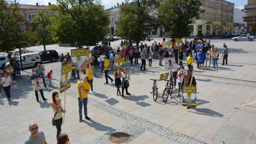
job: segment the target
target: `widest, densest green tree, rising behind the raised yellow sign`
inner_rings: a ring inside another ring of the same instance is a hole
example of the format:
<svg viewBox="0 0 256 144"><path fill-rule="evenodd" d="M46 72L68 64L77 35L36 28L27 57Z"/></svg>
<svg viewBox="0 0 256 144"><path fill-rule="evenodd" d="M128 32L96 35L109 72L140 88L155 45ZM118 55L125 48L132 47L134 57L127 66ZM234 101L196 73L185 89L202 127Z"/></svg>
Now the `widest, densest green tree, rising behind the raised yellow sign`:
<svg viewBox="0 0 256 144"><path fill-rule="evenodd" d="M59 42L96 45L106 36L110 23L109 13L98 0L57 0L59 16L56 35Z"/></svg>

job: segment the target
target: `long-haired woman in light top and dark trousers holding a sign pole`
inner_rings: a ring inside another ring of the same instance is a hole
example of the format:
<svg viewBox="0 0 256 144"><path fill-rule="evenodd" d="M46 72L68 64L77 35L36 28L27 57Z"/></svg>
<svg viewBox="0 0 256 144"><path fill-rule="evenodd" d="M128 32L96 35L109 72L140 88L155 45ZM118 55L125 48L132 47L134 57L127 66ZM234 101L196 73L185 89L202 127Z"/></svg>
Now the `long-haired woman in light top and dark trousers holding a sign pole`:
<svg viewBox="0 0 256 144"><path fill-rule="evenodd" d="M55 121L55 126L57 128L56 137L58 137L58 135L60 135L61 133L61 126L63 122L62 113L65 113L66 110L62 108L61 99L59 98L59 93L57 91L53 92L52 94L51 107L53 110L53 118Z"/></svg>

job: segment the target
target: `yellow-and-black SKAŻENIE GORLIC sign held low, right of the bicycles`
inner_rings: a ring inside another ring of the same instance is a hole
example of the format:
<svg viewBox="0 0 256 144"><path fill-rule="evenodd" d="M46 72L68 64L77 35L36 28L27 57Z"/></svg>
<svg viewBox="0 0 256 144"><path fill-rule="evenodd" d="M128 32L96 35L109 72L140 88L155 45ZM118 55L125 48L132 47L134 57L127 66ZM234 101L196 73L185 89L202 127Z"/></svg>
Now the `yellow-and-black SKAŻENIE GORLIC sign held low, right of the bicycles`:
<svg viewBox="0 0 256 144"><path fill-rule="evenodd" d="M196 86L183 85L183 106L196 107Z"/></svg>

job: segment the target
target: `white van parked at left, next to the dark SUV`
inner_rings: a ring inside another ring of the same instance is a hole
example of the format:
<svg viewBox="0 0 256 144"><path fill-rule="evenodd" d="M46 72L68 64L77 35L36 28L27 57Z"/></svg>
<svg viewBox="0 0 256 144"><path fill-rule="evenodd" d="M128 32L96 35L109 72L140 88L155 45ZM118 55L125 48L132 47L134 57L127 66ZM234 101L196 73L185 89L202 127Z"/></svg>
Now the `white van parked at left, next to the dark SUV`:
<svg viewBox="0 0 256 144"><path fill-rule="evenodd" d="M16 61L19 62L20 64L20 59L19 56L15 58ZM39 53L27 53L27 54L21 54L21 60L22 60L22 67L27 68L27 67L37 67L37 64L41 62L41 58ZM9 63L6 63L5 66L9 66Z"/></svg>

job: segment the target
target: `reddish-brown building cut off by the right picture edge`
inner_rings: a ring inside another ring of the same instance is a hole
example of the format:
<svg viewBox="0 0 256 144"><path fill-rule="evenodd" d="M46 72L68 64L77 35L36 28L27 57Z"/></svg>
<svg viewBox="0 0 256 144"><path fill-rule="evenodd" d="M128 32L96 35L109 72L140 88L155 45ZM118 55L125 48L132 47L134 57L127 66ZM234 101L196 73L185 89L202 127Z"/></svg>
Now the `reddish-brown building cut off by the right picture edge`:
<svg viewBox="0 0 256 144"><path fill-rule="evenodd" d="M247 10L247 16L243 18L244 21L247 22L247 33L256 36L256 0L248 0L247 5L245 5L245 10Z"/></svg>

